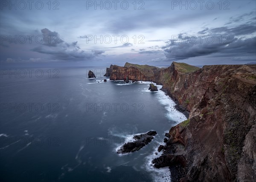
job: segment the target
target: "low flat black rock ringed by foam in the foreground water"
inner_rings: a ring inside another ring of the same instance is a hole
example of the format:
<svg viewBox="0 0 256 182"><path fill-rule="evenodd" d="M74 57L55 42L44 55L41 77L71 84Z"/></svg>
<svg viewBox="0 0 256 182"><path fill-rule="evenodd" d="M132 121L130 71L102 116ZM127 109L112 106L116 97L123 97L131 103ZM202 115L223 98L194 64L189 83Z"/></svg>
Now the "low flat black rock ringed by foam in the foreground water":
<svg viewBox="0 0 256 182"><path fill-rule="evenodd" d="M142 147L144 147L146 144L151 142L152 139L154 139L153 136L155 136L157 132L155 131L149 131L148 133L136 135L133 137L135 140L134 142L128 142L125 143L118 151L117 153L130 153L137 150L140 150Z"/></svg>

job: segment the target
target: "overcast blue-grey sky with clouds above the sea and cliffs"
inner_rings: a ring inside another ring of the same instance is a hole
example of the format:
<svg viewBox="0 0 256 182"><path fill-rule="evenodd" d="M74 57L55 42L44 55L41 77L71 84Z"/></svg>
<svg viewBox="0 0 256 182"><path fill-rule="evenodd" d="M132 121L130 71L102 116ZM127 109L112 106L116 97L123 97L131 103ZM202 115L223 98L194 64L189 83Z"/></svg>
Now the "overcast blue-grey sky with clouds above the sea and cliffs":
<svg viewBox="0 0 256 182"><path fill-rule="evenodd" d="M256 1L0 1L1 66L256 62Z"/></svg>

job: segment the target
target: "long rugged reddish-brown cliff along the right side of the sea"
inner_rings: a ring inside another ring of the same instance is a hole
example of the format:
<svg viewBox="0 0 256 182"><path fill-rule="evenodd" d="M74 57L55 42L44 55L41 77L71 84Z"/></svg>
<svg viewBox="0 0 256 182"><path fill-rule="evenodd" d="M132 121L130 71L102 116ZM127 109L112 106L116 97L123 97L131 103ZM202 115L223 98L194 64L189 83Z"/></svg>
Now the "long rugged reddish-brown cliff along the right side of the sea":
<svg viewBox="0 0 256 182"><path fill-rule="evenodd" d="M177 181L255 181L256 65L143 66L113 66L110 79L128 75L162 84L189 112L188 120L169 131L155 166L180 165Z"/></svg>

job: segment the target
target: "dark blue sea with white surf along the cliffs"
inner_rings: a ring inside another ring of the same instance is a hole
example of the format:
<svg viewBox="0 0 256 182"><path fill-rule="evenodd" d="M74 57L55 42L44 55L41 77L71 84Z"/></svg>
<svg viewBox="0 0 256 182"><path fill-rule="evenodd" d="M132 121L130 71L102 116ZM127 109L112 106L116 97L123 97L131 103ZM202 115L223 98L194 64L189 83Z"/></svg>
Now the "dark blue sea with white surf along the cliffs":
<svg viewBox="0 0 256 182"><path fill-rule="evenodd" d="M87 79L89 69L97 78ZM151 160L164 133L186 118L162 91L148 91L146 82L103 82L105 68L30 72L1 70L1 182L170 181L168 168L155 169ZM149 130L158 133L151 143L116 154Z"/></svg>

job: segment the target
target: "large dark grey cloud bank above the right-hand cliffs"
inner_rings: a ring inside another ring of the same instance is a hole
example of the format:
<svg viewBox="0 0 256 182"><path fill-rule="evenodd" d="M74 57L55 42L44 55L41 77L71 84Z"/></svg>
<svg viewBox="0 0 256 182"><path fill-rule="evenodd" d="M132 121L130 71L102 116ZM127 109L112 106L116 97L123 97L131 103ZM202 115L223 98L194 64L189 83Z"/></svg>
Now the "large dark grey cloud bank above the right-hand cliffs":
<svg viewBox="0 0 256 182"><path fill-rule="evenodd" d="M169 60L183 60L199 56L254 58L256 55L256 37L241 37L241 35L250 35L256 32L255 25L207 28L198 33L204 34L205 31L209 31L211 34L197 38L188 36L185 39L173 40L163 46L166 58Z"/></svg>

